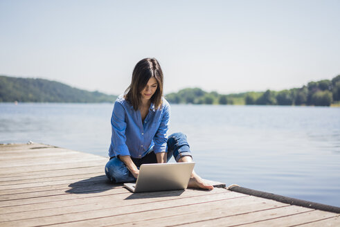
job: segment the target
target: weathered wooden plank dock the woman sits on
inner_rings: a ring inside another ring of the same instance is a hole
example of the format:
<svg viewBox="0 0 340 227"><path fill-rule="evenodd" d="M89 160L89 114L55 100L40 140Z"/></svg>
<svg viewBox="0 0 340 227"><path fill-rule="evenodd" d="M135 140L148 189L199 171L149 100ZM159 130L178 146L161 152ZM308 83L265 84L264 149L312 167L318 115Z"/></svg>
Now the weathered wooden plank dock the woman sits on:
<svg viewBox="0 0 340 227"><path fill-rule="evenodd" d="M0 226L340 226L339 214L226 188L132 194L108 158L43 144L0 145Z"/></svg>

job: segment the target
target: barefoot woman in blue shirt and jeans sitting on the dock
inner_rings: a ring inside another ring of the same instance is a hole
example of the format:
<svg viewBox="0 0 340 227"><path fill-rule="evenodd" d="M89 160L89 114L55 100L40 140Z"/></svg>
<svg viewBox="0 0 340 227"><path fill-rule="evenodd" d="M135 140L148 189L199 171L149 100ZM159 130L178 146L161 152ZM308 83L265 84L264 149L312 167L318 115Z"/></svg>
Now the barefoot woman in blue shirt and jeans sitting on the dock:
<svg viewBox="0 0 340 227"><path fill-rule="evenodd" d="M172 155L177 162L193 161L186 135L167 136L169 120L161 66L156 59L145 58L136 64L131 84L114 103L107 177L116 183L136 181L142 164L166 163ZM188 188L212 190L213 186L193 171Z"/></svg>

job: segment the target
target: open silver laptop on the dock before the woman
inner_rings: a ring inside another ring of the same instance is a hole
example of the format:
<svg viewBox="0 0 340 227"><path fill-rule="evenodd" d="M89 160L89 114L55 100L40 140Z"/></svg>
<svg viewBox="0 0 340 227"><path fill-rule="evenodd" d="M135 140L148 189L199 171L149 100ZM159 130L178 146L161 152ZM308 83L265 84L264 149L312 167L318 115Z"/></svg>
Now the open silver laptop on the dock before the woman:
<svg viewBox="0 0 340 227"><path fill-rule="evenodd" d="M194 165L194 162L143 164L136 183L124 183L124 186L132 192L184 190L188 187Z"/></svg>

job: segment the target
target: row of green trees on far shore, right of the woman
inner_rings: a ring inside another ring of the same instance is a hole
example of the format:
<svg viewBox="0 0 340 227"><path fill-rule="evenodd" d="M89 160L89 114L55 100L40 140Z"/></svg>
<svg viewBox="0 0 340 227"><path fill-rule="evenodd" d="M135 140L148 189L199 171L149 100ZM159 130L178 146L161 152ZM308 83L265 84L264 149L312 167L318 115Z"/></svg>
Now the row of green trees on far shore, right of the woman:
<svg viewBox="0 0 340 227"><path fill-rule="evenodd" d="M245 92L221 95L199 88L183 89L166 96L171 103L220 105L314 105L330 106L340 101L340 75L332 80L309 82L307 86L283 91Z"/></svg>

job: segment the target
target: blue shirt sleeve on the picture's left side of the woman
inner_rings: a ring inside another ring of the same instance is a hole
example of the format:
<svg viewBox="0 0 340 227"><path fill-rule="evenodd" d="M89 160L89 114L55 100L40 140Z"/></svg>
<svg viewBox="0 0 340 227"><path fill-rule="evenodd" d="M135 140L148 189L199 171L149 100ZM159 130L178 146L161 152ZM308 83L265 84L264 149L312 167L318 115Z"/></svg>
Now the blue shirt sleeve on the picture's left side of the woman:
<svg viewBox="0 0 340 227"><path fill-rule="evenodd" d="M126 145L125 129L127 123L125 120L125 109L120 102L114 103L114 110L111 116L111 146L113 147L115 156L130 155Z"/></svg>

